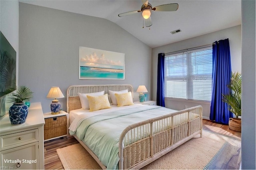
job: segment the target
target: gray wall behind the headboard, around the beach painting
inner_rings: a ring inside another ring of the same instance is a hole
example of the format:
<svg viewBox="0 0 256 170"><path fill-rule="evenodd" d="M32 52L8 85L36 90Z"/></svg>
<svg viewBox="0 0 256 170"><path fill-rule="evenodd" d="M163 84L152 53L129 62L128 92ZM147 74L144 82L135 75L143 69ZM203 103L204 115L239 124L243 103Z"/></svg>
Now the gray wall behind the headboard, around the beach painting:
<svg viewBox="0 0 256 170"><path fill-rule="evenodd" d="M64 111L70 85L131 84L134 91L146 85L151 93L152 49L113 22L20 3L19 36L19 85L34 91L31 102L41 102L44 113L50 112L52 86L65 96L59 99ZM79 80L79 46L125 53L125 80Z"/></svg>

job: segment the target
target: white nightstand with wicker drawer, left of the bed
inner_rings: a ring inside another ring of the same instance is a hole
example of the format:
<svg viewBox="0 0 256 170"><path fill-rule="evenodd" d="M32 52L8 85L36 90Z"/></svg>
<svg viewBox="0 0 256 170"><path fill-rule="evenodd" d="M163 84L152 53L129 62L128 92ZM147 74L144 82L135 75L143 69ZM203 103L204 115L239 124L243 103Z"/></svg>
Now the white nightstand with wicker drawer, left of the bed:
<svg viewBox="0 0 256 170"><path fill-rule="evenodd" d="M57 115L44 113L44 141L68 135L68 116L64 111Z"/></svg>

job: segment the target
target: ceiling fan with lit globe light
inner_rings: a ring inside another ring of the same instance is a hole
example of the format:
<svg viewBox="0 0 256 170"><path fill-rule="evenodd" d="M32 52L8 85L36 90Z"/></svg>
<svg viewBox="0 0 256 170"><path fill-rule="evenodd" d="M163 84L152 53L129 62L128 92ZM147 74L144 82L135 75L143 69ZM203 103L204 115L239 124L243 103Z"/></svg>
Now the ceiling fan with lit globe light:
<svg viewBox="0 0 256 170"><path fill-rule="evenodd" d="M130 12L124 12L121 14L118 14L119 17L122 16L128 16L131 14L136 14L138 12L142 12L142 16L145 19L145 25L146 27L152 26L152 20L150 18L151 11L176 11L178 10L179 5L177 3L174 4L164 4L164 5L159 5L154 8L152 8L152 5L148 3L148 0L141 6L141 10L137 11L130 11Z"/></svg>

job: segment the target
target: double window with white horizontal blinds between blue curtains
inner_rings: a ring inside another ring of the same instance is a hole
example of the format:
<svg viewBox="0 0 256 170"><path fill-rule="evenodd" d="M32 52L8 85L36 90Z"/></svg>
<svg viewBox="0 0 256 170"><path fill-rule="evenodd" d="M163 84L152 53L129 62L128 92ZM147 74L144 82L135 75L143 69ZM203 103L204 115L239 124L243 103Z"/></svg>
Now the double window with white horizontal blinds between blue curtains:
<svg viewBox="0 0 256 170"><path fill-rule="evenodd" d="M166 55L164 96L211 101L212 47Z"/></svg>

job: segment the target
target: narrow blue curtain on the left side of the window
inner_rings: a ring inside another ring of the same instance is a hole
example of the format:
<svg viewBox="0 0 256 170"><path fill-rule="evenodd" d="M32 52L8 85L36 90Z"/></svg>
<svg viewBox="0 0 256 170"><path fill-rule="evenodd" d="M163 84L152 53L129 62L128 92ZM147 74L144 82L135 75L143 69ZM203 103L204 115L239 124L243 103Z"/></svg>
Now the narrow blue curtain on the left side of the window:
<svg viewBox="0 0 256 170"><path fill-rule="evenodd" d="M158 54L156 105L164 105L164 53Z"/></svg>

